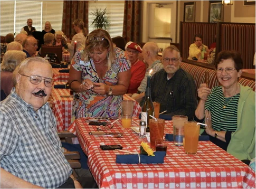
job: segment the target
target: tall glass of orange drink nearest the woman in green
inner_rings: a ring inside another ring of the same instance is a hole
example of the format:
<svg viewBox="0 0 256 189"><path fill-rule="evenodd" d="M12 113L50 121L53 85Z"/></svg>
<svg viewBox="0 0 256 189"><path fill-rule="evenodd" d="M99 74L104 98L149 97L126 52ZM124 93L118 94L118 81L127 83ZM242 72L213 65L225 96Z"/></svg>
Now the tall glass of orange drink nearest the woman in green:
<svg viewBox="0 0 256 189"><path fill-rule="evenodd" d="M184 123L184 149L186 154L196 154L200 125L195 121L186 121Z"/></svg>

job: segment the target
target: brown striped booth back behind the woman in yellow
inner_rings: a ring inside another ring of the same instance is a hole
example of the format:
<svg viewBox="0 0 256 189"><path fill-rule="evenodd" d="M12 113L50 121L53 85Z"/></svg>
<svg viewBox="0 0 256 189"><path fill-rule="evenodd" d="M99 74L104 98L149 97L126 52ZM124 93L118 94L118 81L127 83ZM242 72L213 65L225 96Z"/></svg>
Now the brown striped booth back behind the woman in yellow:
<svg viewBox="0 0 256 189"><path fill-rule="evenodd" d="M215 41L216 23L204 23L204 22L180 22L180 54L183 59L189 57L189 46L194 43L194 35L202 34L202 42L206 46L210 46Z"/></svg>

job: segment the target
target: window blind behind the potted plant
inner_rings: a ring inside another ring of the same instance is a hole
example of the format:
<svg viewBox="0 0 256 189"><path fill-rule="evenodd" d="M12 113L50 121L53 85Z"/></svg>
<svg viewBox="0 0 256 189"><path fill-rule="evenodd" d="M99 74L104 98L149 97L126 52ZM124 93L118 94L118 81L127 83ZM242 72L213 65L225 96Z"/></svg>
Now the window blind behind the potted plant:
<svg viewBox="0 0 256 189"><path fill-rule="evenodd" d="M91 23L95 16L92 14L96 10L103 11L106 8L106 17L108 17L109 26L106 29L111 37L116 37L123 34L123 22L124 22L124 1L115 2L89 2L89 33L95 28ZM103 28L104 29L104 28Z"/></svg>

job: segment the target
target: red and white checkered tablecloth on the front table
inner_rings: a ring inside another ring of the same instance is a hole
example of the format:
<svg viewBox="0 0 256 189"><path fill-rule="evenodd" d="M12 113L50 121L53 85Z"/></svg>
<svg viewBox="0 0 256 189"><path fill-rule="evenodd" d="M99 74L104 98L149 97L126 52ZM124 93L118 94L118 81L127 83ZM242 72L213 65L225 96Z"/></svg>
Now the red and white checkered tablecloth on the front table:
<svg viewBox="0 0 256 189"><path fill-rule="evenodd" d="M164 164L116 164L116 155L123 153L102 151L99 145L122 145L123 150L138 152L146 139L122 128L121 120L109 130L124 133L121 138L89 135L97 126L87 123L81 118L72 125L99 188L255 188L252 169L210 141L199 141L196 155L168 142ZM134 126L138 123L133 118ZM165 133L172 133L172 121L165 123Z"/></svg>

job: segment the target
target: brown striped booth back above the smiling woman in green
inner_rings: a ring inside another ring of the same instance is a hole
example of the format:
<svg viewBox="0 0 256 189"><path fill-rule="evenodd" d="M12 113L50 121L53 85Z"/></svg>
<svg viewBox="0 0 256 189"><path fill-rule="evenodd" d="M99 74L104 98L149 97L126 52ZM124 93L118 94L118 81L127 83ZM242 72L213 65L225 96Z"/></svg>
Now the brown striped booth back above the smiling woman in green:
<svg viewBox="0 0 256 189"><path fill-rule="evenodd" d="M244 69L253 69L255 53L255 24L221 24L221 51L235 50L241 53Z"/></svg>

